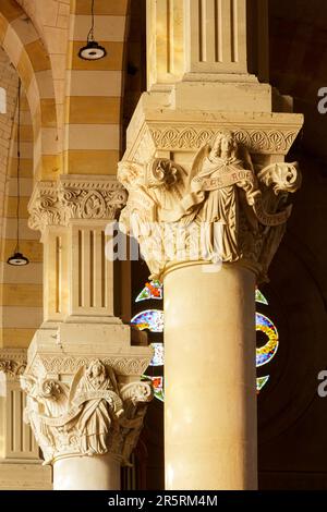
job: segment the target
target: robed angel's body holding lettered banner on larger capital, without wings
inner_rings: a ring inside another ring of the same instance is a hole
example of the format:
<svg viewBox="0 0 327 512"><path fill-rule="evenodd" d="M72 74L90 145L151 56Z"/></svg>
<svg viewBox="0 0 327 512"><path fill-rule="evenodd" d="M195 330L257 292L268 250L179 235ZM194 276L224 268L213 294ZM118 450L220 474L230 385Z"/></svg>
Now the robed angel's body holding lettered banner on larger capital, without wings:
<svg viewBox="0 0 327 512"><path fill-rule="evenodd" d="M195 159L191 182L191 195L195 203L203 202L196 222L208 223L206 240L208 255L219 251L222 261L234 261L241 256L239 249L239 191L245 193L246 202L253 205L259 194L256 179L251 168L237 157L238 145L232 132L220 132L211 146L205 146ZM218 247L215 223L219 223Z"/></svg>

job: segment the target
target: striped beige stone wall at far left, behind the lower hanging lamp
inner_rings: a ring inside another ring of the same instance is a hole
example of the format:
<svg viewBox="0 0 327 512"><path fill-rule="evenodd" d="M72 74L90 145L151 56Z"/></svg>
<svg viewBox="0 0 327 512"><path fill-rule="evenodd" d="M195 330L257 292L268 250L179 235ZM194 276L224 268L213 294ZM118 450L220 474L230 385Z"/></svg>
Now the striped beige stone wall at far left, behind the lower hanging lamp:
<svg viewBox="0 0 327 512"><path fill-rule="evenodd" d="M0 114L0 346L27 348L43 318L43 252L38 233L27 225L33 190L34 133L25 93L21 94L20 130L20 249L29 265L7 264L16 246L17 208L17 90L19 75L0 48L0 85L5 89L5 113Z"/></svg>

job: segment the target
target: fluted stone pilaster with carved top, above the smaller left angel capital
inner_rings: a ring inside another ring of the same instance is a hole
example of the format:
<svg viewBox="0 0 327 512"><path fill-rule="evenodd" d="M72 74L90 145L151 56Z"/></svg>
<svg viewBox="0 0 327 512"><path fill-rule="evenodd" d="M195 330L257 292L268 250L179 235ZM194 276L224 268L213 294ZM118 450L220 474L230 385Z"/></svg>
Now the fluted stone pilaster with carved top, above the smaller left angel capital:
<svg viewBox="0 0 327 512"><path fill-rule="evenodd" d="M44 243L45 321L68 316L113 318L113 263L106 258L106 228L125 203L116 180L61 176L37 183L29 227Z"/></svg>

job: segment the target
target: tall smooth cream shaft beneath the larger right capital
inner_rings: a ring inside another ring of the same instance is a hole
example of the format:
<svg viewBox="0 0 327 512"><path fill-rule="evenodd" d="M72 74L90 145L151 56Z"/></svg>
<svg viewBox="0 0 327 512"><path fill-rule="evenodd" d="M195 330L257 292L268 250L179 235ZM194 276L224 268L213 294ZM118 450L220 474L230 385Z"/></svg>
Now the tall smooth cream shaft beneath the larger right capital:
<svg viewBox="0 0 327 512"><path fill-rule="evenodd" d="M255 277L191 265L165 278L167 489L256 489Z"/></svg>

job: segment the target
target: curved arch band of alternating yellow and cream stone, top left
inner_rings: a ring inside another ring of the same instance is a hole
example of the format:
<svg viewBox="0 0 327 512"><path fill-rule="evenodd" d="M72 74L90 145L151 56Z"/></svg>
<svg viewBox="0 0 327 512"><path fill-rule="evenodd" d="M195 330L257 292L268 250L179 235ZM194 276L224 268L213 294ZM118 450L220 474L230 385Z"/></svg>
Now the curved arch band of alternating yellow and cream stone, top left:
<svg viewBox="0 0 327 512"><path fill-rule="evenodd" d="M34 176L52 180L60 170L56 97L49 54L31 19L15 0L0 4L0 45L21 77L34 132Z"/></svg>

